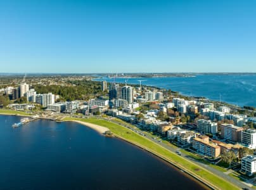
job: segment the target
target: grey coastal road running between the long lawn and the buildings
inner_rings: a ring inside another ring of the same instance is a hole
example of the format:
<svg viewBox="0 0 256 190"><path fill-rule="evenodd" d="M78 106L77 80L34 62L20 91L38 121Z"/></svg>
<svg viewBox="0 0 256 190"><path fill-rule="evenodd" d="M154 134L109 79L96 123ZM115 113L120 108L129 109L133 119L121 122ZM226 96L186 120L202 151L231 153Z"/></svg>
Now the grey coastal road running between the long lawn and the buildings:
<svg viewBox="0 0 256 190"><path fill-rule="evenodd" d="M123 127L129 128L128 124L125 125L125 124L122 124L122 123L120 123L120 122L118 122L118 121L115 121L115 120L108 120L108 119L106 119L106 118L103 118L103 119L104 119L104 120L107 120L107 121L110 121L110 122L113 122L113 123L118 124L118 125L122 125ZM133 125L133 126L134 126L134 125ZM134 126L134 127L136 127L136 126ZM130 128L131 128L131 127L130 127ZM130 129L130 128L129 128L129 129ZM138 134L144 134L144 133L143 133L143 130L140 130L138 127L136 127L135 129L132 129L132 130L133 130L134 132L137 132ZM169 149L169 151L172 151L173 153L176 153L176 151L178 150L177 148L172 148L171 146L168 146L167 144L164 144L164 143L158 141L157 139L152 139L152 137L151 137L151 136L148 136L147 134L145 134L144 137L146 137L147 139L150 139L150 141L153 141L153 142L159 144L160 146L163 146L163 147L166 148L166 149ZM234 185L237 186L237 187L240 187L241 189L243 189L243 188L252 189L250 186L246 185L245 183L240 182L240 181L234 179L233 177L231 177L231 176L229 176L229 175L227 175L227 174L224 174L223 172L221 172L221 171L219 171L219 170L217 170L217 169L215 169L215 168L212 168L212 167L208 166L208 165L205 164L205 163L198 162L198 161L194 160L193 158L190 158L189 155L186 155L186 153L183 153L183 152L182 152L181 156L182 156L183 158L188 159L189 161L195 163L196 165L200 165L200 167L205 168L205 170L208 170L208 171L212 172L213 174L215 174L215 175L221 177L222 179L225 179L226 181L231 182L232 184L234 184Z"/></svg>

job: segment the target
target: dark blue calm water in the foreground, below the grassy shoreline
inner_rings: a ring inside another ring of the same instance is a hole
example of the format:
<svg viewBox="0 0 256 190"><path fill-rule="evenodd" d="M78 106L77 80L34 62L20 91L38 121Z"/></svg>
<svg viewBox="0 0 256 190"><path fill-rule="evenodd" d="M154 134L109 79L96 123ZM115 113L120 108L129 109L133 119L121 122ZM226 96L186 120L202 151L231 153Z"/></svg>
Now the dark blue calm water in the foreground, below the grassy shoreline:
<svg viewBox="0 0 256 190"><path fill-rule="evenodd" d="M205 189L150 153L74 123L0 115L0 189Z"/></svg>

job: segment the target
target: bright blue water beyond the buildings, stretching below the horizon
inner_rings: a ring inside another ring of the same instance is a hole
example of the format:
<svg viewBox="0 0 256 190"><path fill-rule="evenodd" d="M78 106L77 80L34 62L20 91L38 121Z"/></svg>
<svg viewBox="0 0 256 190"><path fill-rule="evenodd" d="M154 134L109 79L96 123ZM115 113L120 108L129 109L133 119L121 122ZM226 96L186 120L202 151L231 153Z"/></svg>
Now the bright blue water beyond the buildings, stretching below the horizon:
<svg viewBox="0 0 256 190"><path fill-rule="evenodd" d="M103 79L97 79L103 80ZM113 79L104 79L113 82ZM124 83L125 79L115 79ZM179 91L188 96L204 96L238 106L256 106L256 75L196 75L196 77L165 77L129 79L129 84L153 85Z"/></svg>

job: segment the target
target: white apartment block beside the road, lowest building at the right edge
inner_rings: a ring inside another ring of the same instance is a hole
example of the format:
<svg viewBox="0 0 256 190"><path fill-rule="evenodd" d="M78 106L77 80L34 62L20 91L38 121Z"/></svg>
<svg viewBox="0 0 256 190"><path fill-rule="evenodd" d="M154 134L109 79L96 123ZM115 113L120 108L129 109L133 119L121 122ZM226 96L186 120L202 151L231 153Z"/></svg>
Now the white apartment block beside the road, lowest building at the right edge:
<svg viewBox="0 0 256 190"><path fill-rule="evenodd" d="M246 156L242 158L241 172L247 175L253 175L256 172L256 156Z"/></svg>

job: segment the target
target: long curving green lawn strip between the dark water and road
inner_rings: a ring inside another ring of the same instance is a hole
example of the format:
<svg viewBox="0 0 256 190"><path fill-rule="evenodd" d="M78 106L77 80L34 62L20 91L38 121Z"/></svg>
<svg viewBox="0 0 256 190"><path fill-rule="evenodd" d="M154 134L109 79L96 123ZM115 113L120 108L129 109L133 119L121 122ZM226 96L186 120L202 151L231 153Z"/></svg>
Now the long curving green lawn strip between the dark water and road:
<svg viewBox="0 0 256 190"><path fill-rule="evenodd" d="M151 152L155 153L156 155L164 158L165 160L182 167L183 170L188 170L194 175L204 179L205 181L210 182L212 185L217 187L218 189L239 189L238 187L234 186L233 184L224 181L221 177L214 175L204 168L195 165L189 160L182 158L181 156L176 155L176 153L170 152L168 149L163 148L162 146L153 143L149 139L146 139L143 136L140 136L136 132L129 130L121 125L113 124L112 122L107 122L105 120L99 120L96 118L65 118L64 120L80 120L84 122L89 122L91 124L101 125L103 127L108 127L113 134L118 137L124 138L127 141L137 144L142 148L148 149Z"/></svg>

